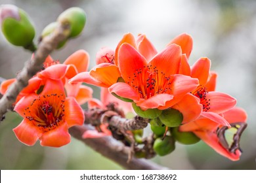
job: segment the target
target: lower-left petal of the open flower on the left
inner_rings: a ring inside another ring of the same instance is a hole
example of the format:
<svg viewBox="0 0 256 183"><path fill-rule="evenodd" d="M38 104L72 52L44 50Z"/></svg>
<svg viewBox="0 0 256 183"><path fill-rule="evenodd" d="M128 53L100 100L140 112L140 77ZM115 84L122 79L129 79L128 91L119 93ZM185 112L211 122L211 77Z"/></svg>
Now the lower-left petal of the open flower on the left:
<svg viewBox="0 0 256 183"><path fill-rule="evenodd" d="M42 134L39 128L26 118L13 131L18 140L28 146L33 146Z"/></svg>

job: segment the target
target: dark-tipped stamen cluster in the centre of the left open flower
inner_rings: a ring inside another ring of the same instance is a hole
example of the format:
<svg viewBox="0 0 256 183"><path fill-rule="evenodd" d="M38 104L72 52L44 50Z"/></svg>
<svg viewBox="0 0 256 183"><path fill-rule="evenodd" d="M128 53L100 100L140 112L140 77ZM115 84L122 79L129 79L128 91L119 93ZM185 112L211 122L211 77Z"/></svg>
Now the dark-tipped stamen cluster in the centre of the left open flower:
<svg viewBox="0 0 256 183"><path fill-rule="evenodd" d="M65 97L61 94L39 95L33 99L24 115L42 131L55 129L64 122Z"/></svg>

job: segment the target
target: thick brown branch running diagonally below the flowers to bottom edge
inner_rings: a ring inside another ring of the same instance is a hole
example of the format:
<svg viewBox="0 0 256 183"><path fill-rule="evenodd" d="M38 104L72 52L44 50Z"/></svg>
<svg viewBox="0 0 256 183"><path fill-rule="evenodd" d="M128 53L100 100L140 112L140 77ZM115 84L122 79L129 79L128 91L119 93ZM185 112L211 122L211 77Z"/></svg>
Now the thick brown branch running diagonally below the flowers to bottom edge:
<svg viewBox="0 0 256 183"><path fill-rule="evenodd" d="M127 163L130 148L125 146L119 141L116 141L113 137L100 137L96 139L83 139L82 135L85 131L92 129L90 125L74 126L69 129L70 134L84 142L87 146L90 146L96 152L100 153L106 158L112 159L125 169L131 170L156 170L156 169L168 169L167 167L162 167L152 161L146 159L132 158L129 163Z"/></svg>

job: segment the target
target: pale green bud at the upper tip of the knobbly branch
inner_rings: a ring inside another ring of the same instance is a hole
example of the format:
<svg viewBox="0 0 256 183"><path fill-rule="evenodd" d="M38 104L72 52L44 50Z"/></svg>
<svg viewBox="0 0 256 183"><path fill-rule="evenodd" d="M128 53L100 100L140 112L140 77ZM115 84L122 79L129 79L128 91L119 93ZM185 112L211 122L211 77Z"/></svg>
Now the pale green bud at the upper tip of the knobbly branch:
<svg viewBox="0 0 256 183"><path fill-rule="evenodd" d="M85 27L86 14L81 8L68 8L58 16L57 22L60 22L61 24L70 24L69 37L76 37L83 31L83 27Z"/></svg>

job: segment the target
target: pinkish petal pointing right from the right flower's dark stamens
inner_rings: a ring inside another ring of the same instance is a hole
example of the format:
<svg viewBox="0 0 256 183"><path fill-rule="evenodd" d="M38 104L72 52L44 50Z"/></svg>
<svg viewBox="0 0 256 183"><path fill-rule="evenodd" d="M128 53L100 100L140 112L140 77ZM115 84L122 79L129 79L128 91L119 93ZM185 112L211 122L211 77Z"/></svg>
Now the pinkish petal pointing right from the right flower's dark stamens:
<svg viewBox="0 0 256 183"><path fill-rule="evenodd" d="M209 112L220 114L236 105L236 99L226 93L209 92L206 94L206 98L210 102L210 108L207 110Z"/></svg>

